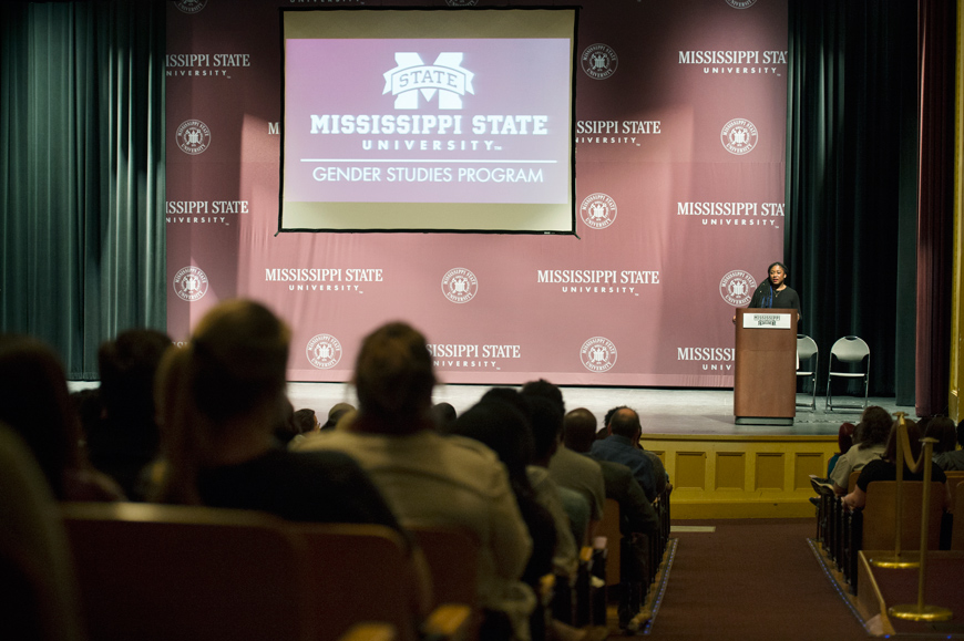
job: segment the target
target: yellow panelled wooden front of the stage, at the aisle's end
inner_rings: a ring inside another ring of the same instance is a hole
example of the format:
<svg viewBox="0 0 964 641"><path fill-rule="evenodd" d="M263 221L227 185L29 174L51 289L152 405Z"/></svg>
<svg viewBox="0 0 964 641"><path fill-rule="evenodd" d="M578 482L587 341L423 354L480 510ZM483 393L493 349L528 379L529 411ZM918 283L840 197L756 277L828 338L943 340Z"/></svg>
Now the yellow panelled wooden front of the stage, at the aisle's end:
<svg viewBox="0 0 964 641"><path fill-rule="evenodd" d="M644 434L673 483L673 520L809 518L810 475L827 476L837 435Z"/></svg>

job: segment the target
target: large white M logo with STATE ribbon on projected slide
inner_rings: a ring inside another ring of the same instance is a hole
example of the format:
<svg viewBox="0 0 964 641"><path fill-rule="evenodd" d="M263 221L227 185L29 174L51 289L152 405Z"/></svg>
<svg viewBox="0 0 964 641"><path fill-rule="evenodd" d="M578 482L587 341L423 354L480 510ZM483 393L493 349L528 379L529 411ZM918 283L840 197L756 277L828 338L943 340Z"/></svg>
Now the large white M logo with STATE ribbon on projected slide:
<svg viewBox="0 0 964 641"><path fill-rule="evenodd" d="M462 108L462 96L474 94L472 79L475 74L462 69L462 54L443 52L435 58L432 65L422 62L422 58L413 52L394 54L398 66L384 72L384 89L382 94L391 92L394 108L419 108L419 95L431 101L439 94L439 108Z"/></svg>

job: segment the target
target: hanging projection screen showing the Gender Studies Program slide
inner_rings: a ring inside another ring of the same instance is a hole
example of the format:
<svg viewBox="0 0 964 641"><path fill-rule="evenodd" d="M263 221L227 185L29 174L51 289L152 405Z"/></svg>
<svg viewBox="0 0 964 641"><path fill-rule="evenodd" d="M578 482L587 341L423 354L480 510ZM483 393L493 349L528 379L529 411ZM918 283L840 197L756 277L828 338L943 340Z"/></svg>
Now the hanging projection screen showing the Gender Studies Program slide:
<svg viewBox="0 0 964 641"><path fill-rule="evenodd" d="M573 232L556 13L286 11L280 229ZM510 15L527 37L488 35Z"/></svg>

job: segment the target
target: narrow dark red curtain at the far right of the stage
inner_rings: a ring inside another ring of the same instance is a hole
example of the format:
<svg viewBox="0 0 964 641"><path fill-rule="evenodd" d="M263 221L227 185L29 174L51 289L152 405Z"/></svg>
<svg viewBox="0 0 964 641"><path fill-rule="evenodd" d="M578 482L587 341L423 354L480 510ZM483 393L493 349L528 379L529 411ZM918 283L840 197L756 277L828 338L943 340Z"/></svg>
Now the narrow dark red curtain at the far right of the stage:
<svg viewBox="0 0 964 641"><path fill-rule="evenodd" d="M917 185L919 416L947 414L954 258L955 3L920 0L917 60L921 172Z"/></svg>

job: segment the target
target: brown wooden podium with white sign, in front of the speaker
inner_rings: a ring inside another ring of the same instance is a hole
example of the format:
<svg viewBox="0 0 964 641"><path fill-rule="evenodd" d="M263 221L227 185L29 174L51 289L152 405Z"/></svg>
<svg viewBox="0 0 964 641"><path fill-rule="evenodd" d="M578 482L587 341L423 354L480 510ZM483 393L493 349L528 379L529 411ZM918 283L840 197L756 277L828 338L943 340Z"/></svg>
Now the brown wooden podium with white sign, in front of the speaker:
<svg viewBox="0 0 964 641"><path fill-rule="evenodd" d="M738 309L737 425L792 425L797 415L797 310Z"/></svg>

